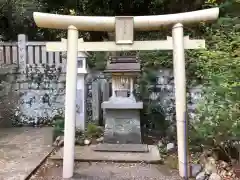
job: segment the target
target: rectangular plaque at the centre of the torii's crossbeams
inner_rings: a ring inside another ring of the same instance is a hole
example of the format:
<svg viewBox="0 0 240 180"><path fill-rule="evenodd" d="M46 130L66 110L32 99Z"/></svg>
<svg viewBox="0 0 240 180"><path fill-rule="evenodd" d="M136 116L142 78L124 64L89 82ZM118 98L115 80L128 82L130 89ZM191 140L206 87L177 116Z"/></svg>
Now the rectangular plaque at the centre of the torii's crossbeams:
<svg viewBox="0 0 240 180"><path fill-rule="evenodd" d="M133 44L133 17L115 17L116 44Z"/></svg>

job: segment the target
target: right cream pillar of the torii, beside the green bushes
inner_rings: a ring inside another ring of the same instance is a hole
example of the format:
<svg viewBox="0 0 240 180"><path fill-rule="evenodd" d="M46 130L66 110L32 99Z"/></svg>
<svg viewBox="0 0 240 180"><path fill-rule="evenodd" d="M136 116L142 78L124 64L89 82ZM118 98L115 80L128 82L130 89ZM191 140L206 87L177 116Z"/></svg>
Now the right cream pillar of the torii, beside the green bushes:
<svg viewBox="0 0 240 180"><path fill-rule="evenodd" d="M178 141L178 166L181 177L189 176L188 136L187 136L187 105L186 105L186 73L184 55L183 25L177 23L172 28L173 66L176 101L176 124Z"/></svg>

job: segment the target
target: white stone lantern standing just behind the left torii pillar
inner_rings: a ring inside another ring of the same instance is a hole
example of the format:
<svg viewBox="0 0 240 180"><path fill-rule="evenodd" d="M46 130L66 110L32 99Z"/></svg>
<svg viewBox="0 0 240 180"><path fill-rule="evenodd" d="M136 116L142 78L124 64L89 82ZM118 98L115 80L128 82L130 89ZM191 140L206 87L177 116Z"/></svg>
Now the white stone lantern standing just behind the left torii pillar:
<svg viewBox="0 0 240 180"><path fill-rule="evenodd" d="M77 97L76 97L76 128L84 131L86 123L86 87L85 76L88 73L87 53L78 52L77 57Z"/></svg>

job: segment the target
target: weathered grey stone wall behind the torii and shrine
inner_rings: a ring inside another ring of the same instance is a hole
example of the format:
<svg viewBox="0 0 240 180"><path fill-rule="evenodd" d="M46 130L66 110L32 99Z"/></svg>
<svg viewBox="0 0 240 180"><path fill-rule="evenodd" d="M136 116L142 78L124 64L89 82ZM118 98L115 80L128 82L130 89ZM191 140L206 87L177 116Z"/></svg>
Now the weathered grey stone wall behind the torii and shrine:
<svg viewBox="0 0 240 180"><path fill-rule="evenodd" d="M55 115L63 115L65 97L65 73L55 66L27 66L26 73L10 74L12 93L18 96L14 104L15 115L11 116L14 125L49 124ZM87 86L87 121L92 121L92 82L108 81L110 78L103 73L90 73L86 77ZM169 69L158 72L155 90L150 99L156 100L167 115L173 119L174 107L174 80L173 72ZM188 93L188 107L190 117L194 115L195 105L201 93L201 86L194 87Z"/></svg>

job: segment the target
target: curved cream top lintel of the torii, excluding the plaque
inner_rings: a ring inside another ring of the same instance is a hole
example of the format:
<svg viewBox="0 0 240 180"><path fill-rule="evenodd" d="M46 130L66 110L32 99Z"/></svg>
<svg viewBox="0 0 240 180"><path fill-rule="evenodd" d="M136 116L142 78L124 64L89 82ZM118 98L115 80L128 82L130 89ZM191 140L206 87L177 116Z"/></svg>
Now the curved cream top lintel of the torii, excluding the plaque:
<svg viewBox="0 0 240 180"><path fill-rule="evenodd" d="M202 21L213 21L218 18L219 8L210 8L192 12L134 16L135 31L159 30L162 26L176 23L190 24ZM33 13L37 26L51 29L67 29L73 25L80 31L114 31L115 17L107 16L71 16L49 13Z"/></svg>

